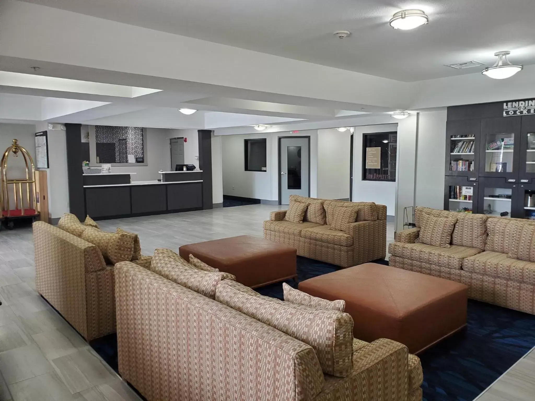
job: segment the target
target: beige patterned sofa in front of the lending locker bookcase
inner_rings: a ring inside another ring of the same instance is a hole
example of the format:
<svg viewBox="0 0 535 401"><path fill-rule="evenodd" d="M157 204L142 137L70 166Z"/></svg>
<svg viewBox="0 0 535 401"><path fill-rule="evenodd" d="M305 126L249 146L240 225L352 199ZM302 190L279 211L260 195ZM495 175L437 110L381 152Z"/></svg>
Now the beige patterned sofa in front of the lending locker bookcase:
<svg viewBox="0 0 535 401"><path fill-rule="evenodd" d="M457 219L450 248L418 243L423 213ZM468 296L535 314L535 224L416 207L416 228L396 233L391 266L457 281Z"/></svg>

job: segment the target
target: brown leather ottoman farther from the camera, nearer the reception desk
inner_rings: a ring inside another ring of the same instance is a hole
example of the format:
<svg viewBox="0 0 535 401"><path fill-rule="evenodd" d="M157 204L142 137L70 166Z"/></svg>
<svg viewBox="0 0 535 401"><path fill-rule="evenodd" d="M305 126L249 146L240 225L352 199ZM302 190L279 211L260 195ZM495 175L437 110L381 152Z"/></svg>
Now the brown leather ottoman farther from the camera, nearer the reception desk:
<svg viewBox="0 0 535 401"><path fill-rule="evenodd" d="M190 253L251 288L297 277L297 250L264 238L242 235L180 246L182 258L189 260Z"/></svg>

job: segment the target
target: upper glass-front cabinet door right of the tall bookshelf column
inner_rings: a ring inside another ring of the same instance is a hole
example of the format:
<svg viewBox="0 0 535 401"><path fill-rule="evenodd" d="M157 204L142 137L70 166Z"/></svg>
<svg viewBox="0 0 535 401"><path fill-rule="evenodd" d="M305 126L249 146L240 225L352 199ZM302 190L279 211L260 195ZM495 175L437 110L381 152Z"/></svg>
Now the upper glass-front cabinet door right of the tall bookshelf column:
<svg viewBox="0 0 535 401"><path fill-rule="evenodd" d="M507 182L518 178L521 117L483 119L479 154L479 175L505 177Z"/></svg>

